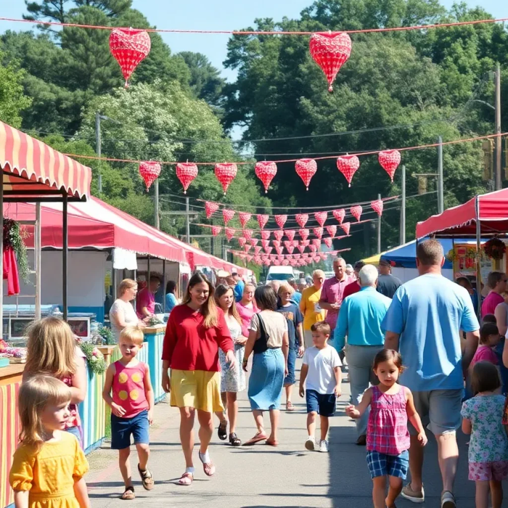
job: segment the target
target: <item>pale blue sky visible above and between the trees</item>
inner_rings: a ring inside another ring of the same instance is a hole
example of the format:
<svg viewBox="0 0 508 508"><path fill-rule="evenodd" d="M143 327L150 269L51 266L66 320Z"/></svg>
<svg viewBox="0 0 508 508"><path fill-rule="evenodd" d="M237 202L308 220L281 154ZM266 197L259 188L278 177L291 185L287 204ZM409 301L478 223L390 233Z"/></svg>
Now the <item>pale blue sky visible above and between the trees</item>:
<svg viewBox="0 0 508 508"><path fill-rule="evenodd" d="M134 0L134 7L141 11L148 21L158 28L184 28L200 30L231 30L252 25L255 18L273 18L283 16L295 18L312 0ZM441 0L450 7L453 0ZM467 0L468 5L481 4L496 18L508 17L505 0ZM25 12L23 0L2 0L0 16L21 18ZM504 6L503 6L504 4ZM0 33L6 29L26 30L30 25L0 22ZM173 52L196 51L204 53L218 69L227 54L227 35L199 34L163 34ZM234 74L224 70L231 79Z"/></svg>

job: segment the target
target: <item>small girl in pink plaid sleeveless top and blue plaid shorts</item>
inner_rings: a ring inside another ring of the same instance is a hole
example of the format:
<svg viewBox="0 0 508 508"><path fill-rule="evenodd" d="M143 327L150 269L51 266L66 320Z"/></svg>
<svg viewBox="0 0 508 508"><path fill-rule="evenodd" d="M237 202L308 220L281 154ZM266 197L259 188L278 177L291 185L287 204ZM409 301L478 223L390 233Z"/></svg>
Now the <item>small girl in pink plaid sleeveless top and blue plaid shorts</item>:
<svg viewBox="0 0 508 508"><path fill-rule="evenodd" d="M347 406L346 415L360 418L370 406L367 464L373 482L372 500L374 508L395 508L395 499L402 491L409 465L407 420L418 432L422 446L427 444L427 436L411 392L397 383L403 370L400 354L393 350L380 351L374 357L372 369L379 379L379 386L369 388L358 406Z"/></svg>

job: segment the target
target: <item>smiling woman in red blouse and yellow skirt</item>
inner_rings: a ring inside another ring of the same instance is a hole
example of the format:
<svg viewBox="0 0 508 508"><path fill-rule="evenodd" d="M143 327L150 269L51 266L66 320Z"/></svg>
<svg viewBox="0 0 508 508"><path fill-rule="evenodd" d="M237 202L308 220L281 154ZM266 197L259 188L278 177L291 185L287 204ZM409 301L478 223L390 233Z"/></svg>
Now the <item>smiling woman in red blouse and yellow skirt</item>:
<svg viewBox="0 0 508 508"><path fill-rule="evenodd" d="M162 387L171 392L171 405L180 408L180 442L185 456L180 485L190 485L194 480L196 409L201 440L199 458L205 474L215 474L208 444L213 433L213 412L224 411L220 399L219 347L226 354L229 368L238 368L224 312L215 305L213 294L213 285L203 274L198 272L190 277L182 304L169 315L164 337Z"/></svg>

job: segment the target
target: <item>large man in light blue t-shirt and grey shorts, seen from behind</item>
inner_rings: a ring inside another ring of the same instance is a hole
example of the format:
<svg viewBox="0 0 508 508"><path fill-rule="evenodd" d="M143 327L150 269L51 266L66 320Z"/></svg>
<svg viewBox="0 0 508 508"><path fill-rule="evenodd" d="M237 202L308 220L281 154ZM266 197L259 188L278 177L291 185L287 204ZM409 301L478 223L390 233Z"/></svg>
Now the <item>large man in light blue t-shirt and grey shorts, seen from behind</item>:
<svg viewBox="0 0 508 508"><path fill-rule="evenodd" d="M441 508L455 508L452 489L459 457L455 431L461 425L464 374L478 346L480 325L467 291L441 275L443 263L438 241L418 244L420 276L397 290L382 327L385 348L402 355L405 371L400 383L413 392L422 422L437 440L443 478ZM466 332L463 354L461 331ZM408 426L411 482L402 489L402 496L423 502L423 449L417 432Z"/></svg>

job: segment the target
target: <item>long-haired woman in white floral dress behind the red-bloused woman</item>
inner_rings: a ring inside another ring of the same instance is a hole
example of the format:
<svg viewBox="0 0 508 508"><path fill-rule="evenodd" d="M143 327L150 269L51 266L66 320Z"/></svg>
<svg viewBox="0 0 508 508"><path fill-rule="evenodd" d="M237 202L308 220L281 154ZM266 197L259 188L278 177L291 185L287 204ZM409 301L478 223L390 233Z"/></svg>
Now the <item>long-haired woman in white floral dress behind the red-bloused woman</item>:
<svg viewBox="0 0 508 508"><path fill-rule="evenodd" d="M215 300L217 305L224 310L226 323L228 325L231 338L235 343L235 357L237 361L237 367L235 369L229 368L226 364L226 356L222 351L219 351L221 370L220 392L224 407L228 413L229 442L232 446L240 446L242 442L235 432L236 421L238 418L237 393L243 392L246 388L245 372L240 366L243 361L247 337L242 335L242 321L236 308L233 290L225 284L219 284L215 288ZM225 440L228 438L228 420L226 419L225 412L216 412L215 414L220 420L217 431L219 439Z"/></svg>

